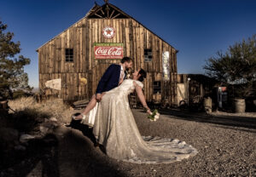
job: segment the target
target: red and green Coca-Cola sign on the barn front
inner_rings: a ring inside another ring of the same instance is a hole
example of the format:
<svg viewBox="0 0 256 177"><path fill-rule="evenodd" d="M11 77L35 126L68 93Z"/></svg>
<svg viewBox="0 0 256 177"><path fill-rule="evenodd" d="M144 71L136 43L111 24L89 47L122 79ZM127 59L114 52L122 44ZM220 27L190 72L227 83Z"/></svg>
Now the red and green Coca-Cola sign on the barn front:
<svg viewBox="0 0 256 177"><path fill-rule="evenodd" d="M122 59L123 43L95 43L94 55L95 59Z"/></svg>

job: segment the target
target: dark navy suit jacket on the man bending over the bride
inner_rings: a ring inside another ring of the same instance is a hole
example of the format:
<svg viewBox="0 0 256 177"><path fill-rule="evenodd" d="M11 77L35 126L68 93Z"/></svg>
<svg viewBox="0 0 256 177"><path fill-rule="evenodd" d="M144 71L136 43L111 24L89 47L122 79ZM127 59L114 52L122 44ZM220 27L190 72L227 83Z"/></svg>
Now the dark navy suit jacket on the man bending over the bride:
<svg viewBox="0 0 256 177"><path fill-rule="evenodd" d="M120 71L120 65L112 64L109 66L98 83L96 94L102 94L102 92L116 88L119 85Z"/></svg>

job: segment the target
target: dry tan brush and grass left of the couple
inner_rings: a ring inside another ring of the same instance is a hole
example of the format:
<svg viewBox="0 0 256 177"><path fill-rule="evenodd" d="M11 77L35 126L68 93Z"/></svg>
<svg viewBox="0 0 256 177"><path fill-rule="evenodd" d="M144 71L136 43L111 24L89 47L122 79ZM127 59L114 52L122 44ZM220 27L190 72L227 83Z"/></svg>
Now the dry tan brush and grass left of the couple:
<svg viewBox="0 0 256 177"><path fill-rule="evenodd" d="M67 106L61 99L49 99L38 103L33 97L22 97L9 100L9 107L15 111L37 111L39 116L55 117L59 123L69 123L73 113L72 107Z"/></svg>

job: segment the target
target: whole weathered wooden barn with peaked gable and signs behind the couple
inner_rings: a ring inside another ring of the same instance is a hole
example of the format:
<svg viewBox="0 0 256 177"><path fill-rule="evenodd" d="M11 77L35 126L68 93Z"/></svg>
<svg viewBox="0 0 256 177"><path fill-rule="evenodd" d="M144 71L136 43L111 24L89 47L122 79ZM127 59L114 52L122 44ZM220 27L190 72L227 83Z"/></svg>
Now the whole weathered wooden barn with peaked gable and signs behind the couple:
<svg viewBox="0 0 256 177"><path fill-rule="evenodd" d="M90 99L112 63L124 56L148 72L148 102L177 105L177 49L108 1L38 48L39 88L63 100Z"/></svg>

